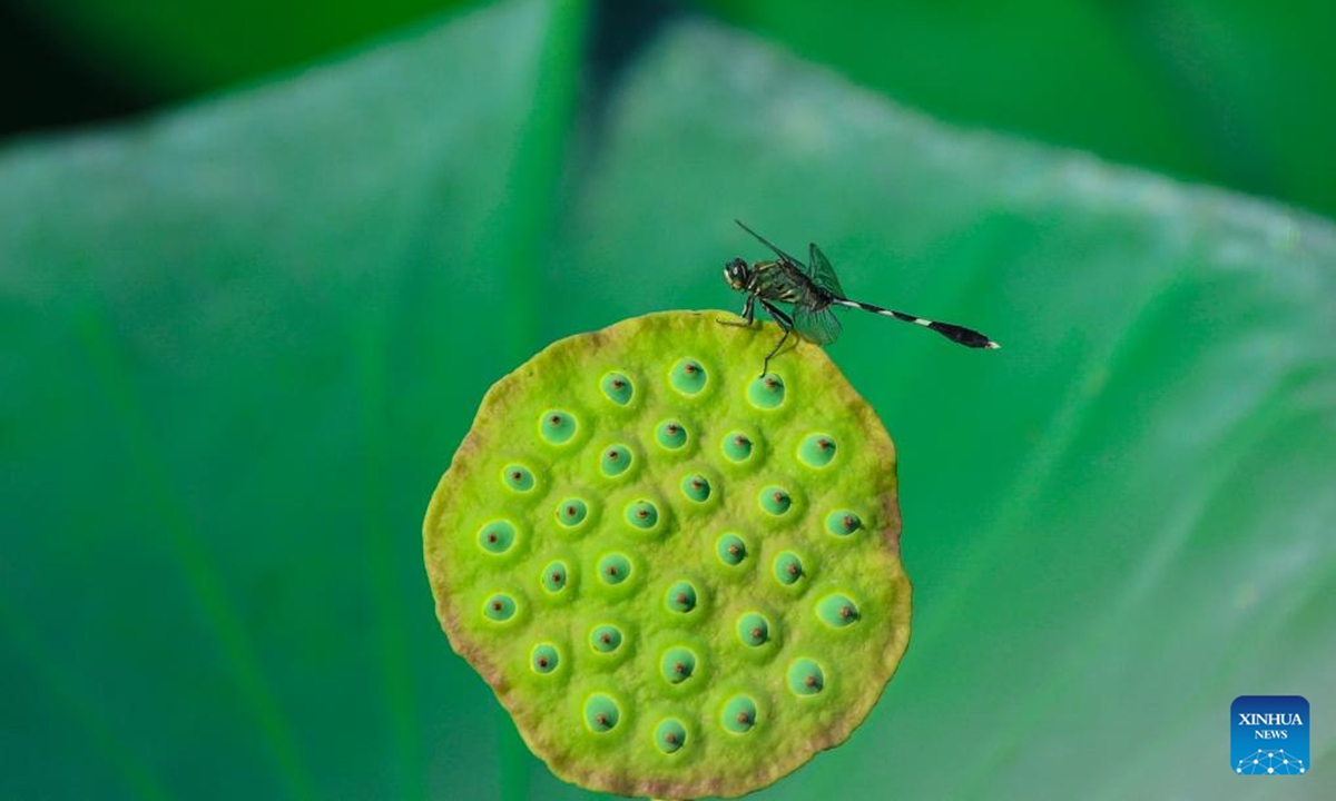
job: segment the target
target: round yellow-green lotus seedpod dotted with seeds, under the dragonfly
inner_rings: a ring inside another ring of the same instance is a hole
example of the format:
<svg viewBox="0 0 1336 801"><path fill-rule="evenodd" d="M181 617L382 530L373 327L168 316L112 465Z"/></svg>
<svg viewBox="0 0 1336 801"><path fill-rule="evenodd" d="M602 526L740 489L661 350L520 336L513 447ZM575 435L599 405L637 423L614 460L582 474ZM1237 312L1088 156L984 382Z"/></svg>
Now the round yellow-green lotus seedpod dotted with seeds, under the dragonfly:
<svg viewBox="0 0 1336 801"><path fill-rule="evenodd" d="M910 635L895 450L815 346L664 312L488 391L424 525L437 614L560 777L735 797L834 748Z"/></svg>

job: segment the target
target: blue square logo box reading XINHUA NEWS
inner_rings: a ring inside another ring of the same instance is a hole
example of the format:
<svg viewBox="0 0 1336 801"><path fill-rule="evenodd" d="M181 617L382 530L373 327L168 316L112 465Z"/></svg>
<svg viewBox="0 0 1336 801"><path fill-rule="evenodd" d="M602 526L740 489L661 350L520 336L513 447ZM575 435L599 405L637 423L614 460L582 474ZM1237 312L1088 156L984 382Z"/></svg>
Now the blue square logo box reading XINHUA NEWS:
<svg viewBox="0 0 1336 801"><path fill-rule="evenodd" d="M1303 776L1308 701L1301 696L1238 696L1229 706L1229 762L1240 776Z"/></svg>

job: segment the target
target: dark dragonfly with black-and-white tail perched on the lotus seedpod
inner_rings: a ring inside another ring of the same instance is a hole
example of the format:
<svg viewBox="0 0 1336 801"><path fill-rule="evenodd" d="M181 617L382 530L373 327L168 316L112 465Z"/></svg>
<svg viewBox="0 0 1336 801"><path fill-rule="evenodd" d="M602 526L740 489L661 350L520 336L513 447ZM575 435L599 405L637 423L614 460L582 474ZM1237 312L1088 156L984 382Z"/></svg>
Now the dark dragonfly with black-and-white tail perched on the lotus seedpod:
<svg viewBox="0 0 1336 801"><path fill-rule="evenodd" d="M725 326L751 327L756 319L756 306L759 304L784 330L784 335L779 343L766 355L766 362L760 371L762 375L770 371L770 360L775 358L779 348L784 347L790 334L796 332L803 339L816 344L830 344L839 339L840 322L834 311L831 311L835 306L862 308L872 314L923 326L965 347L987 350L1002 347L974 328L966 328L955 323L929 320L860 300L850 300L844 295L844 290L839 286L839 278L835 275L835 268L831 267L830 259L826 258L822 248L816 247L815 242L807 246L807 266L804 267L802 262L775 247L774 243L748 228L741 220L733 222L778 256L764 262L755 262L751 266L747 264L745 259L740 258L724 264L724 280L728 282L729 287L740 292L747 292L747 302L741 311L743 322L719 322ZM791 311L784 311L778 306L779 303L788 304Z"/></svg>

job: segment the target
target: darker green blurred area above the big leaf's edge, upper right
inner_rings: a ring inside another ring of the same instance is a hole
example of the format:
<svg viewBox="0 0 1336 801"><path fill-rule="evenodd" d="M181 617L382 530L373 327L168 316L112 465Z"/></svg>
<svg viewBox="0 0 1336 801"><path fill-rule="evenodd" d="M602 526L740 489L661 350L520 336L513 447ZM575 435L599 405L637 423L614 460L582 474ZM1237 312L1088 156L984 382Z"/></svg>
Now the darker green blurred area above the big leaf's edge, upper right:
<svg viewBox="0 0 1336 801"><path fill-rule="evenodd" d="M1336 7L699 0L947 120L1336 214Z"/></svg>

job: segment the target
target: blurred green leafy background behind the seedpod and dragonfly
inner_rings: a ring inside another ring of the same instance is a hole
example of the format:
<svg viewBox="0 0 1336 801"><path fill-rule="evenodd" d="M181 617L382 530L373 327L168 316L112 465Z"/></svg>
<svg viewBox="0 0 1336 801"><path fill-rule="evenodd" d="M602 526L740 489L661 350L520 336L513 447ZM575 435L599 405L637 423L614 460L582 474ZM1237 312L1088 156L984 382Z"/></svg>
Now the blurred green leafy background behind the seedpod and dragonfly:
<svg viewBox="0 0 1336 801"><path fill-rule="evenodd" d="M136 8L35 13L192 99L0 150L0 797L589 797L449 650L421 515L544 343L737 306L735 216L1003 344L844 316L915 633L758 797L1329 797L1336 230L989 129L1331 212L1329 12ZM1271 693L1309 776L1229 770Z"/></svg>

